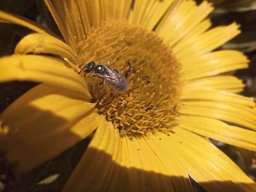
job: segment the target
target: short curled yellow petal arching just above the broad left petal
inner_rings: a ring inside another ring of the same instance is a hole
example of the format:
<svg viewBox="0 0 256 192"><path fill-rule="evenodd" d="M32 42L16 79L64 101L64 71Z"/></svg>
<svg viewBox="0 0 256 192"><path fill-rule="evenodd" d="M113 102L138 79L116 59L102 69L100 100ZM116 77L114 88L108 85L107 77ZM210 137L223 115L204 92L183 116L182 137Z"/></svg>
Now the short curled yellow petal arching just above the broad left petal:
<svg viewBox="0 0 256 192"><path fill-rule="evenodd" d="M22 38L15 47L15 53L50 53L60 55L61 58L71 62L77 62L73 49L59 39L45 34L30 34Z"/></svg>

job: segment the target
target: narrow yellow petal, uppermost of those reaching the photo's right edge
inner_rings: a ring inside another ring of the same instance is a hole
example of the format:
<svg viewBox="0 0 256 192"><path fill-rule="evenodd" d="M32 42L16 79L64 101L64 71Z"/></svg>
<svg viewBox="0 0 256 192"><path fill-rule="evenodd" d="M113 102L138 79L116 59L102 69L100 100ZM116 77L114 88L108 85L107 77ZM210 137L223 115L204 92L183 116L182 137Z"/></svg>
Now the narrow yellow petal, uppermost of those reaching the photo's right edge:
<svg viewBox="0 0 256 192"><path fill-rule="evenodd" d="M183 101L192 100L206 100L206 101L217 101L222 103L235 103L236 105L242 105L247 107L255 107L254 99L243 97L242 95L218 91L212 89L200 89L194 87L194 89L185 89L182 92L181 99Z"/></svg>

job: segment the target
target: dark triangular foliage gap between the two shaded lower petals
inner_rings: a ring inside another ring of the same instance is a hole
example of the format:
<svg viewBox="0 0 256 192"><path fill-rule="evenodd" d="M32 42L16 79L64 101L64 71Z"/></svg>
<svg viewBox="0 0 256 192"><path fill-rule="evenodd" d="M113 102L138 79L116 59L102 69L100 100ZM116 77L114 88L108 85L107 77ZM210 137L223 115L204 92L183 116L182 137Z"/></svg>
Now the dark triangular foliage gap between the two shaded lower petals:
<svg viewBox="0 0 256 192"><path fill-rule="evenodd" d="M90 140L85 139L58 157L23 175L10 183L5 191L12 192L55 192L60 191L70 173L81 158ZM54 146L53 146L54 147Z"/></svg>

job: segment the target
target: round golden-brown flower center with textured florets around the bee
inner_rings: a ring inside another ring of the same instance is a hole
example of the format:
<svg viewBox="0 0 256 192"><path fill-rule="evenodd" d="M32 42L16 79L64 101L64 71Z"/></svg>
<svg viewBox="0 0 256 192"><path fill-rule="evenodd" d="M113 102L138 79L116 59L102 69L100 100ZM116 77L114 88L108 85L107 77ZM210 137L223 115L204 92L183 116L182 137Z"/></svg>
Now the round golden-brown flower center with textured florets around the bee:
<svg viewBox="0 0 256 192"><path fill-rule="evenodd" d="M124 22L92 29L78 45L82 63L110 61L127 82L117 91L93 73L83 74L99 113L124 134L168 132L180 102L180 63L154 32Z"/></svg>

